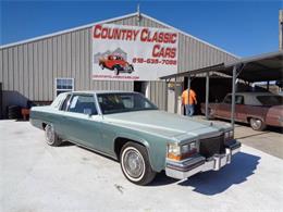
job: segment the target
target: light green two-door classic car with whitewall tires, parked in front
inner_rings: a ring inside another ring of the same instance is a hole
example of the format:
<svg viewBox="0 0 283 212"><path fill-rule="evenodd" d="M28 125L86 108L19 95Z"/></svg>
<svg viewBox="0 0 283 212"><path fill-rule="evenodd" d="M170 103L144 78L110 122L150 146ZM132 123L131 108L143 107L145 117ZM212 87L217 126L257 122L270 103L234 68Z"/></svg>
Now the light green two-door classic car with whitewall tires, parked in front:
<svg viewBox="0 0 283 212"><path fill-rule="evenodd" d="M60 93L51 105L32 108L30 123L50 146L67 140L120 161L137 185L163 170L177 179L218 171L241 148L231 125L161 111L138 92Z"/></svg>

